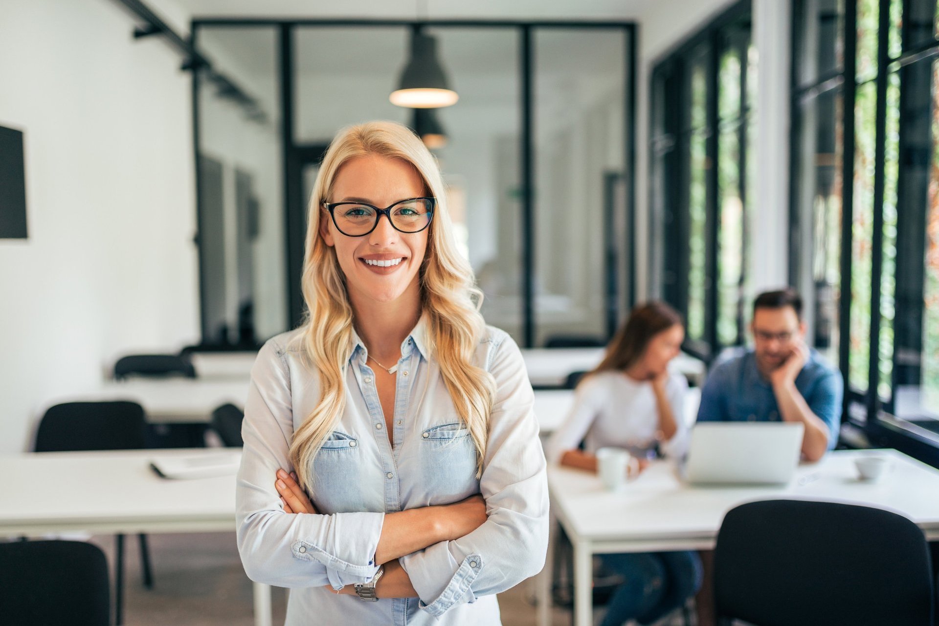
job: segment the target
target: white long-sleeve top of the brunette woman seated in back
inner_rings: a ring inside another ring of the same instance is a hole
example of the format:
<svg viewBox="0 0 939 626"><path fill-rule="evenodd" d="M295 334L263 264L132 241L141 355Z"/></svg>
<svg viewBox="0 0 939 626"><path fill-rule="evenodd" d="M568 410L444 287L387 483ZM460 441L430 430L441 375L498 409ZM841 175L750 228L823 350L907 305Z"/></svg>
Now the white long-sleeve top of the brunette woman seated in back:
<svg viewBox="0 0 939 626"><path fill-rule="evenodd" d="M671 372L666 397L677 430L668 441L661 442L662 452L670 457L681 456L687 447L687 389L685 376ZM617 371L593 374L577 387L571 412L548 441L547 460L560 463L564 452L576 449L581 441L588 452L605 446L649 450L655 445L658 430L658 405L651 382L633 380Z"/></svg>

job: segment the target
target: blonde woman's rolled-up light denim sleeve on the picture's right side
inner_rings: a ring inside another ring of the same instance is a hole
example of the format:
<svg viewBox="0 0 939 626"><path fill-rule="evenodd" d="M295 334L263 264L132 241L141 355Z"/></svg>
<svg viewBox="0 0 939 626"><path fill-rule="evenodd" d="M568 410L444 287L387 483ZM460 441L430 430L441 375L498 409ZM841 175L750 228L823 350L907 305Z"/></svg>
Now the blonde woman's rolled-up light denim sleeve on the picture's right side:
<svg viewBox="0 0 939 626"><path fill-rule="evenodd" d="M534 394L511 338L505 336L490 354L497 390L480 478L488 519L465 537L399 559L420 607L434 616L513 588L545 565L546 463L532 412Z"/></svg>

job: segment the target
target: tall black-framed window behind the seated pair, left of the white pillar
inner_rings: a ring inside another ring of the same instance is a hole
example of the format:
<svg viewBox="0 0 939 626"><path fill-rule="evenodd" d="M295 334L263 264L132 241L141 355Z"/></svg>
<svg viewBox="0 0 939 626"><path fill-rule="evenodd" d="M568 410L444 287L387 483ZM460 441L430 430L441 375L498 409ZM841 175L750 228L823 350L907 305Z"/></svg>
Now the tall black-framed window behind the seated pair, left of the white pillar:
<svg viewBox="0 0 939 626"><path fill-rule="evenodd" d="M752 206L756 55L741 3L656 64L654 228L661 291L702 357L743 344Z"/></svg>

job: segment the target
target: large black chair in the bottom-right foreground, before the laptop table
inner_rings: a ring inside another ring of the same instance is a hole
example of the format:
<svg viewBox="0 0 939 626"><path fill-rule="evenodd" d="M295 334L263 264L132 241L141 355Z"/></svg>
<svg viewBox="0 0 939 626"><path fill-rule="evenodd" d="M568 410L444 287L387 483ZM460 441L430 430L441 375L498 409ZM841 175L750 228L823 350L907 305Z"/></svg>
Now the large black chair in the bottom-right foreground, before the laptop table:
<svg viewBox="0 0 939 626"><path fill-rule="evenodd" d="M932 624L922 531L870 507L800 500L736 507L717 535L714 585L724 624Z"/></svg>

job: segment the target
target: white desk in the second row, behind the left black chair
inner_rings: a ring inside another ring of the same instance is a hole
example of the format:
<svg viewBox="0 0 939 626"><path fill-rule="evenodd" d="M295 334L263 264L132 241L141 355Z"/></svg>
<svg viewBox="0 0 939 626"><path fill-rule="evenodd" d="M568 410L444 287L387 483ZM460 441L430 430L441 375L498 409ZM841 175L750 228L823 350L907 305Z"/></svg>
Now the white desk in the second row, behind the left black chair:
<svg viewBox="0 0 939 626"><path fill-rule="evenodd" d="M153 423L208 422L212 411L231 403L244 407L251 379L232 378L131 378L108 381L99 389L56 399L71 401L131 400L146 411Z"/></svg>

